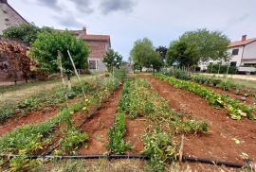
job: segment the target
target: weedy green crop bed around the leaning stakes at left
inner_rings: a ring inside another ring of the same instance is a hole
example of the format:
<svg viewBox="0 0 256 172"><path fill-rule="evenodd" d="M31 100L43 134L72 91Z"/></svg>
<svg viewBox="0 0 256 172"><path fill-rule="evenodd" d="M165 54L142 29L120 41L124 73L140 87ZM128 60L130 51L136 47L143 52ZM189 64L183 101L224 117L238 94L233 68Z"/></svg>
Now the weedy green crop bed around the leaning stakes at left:
<svg viewBox="0 0 256 172"><path fill-rule="evenodd" d="M85 119L92 115L121 83L125 73L119 72L111 77L96 78L73 87L80 100L63 106L54 117L39 124L30 124L13 129L0 137L0 165L10 171L29 170L40 164L39 160L29 160L27 155L76 154L76 150L90 137L75 124L73 115L82 112ZM82 87L87 94L82 97ZM81 100L82 99L82 100ZM8 155L19 155L9 159ZM1 168L0 168L1 169Z"/></svg>

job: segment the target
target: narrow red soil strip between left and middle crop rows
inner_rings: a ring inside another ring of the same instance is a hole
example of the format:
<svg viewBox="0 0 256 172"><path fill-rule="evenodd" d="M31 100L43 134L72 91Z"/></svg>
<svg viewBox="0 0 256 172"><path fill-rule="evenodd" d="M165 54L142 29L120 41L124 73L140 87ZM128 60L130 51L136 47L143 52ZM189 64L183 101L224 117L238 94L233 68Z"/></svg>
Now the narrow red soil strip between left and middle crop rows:
<svg viewBox="0 0 256 172"><path fill-rule="evenodd" d="M89 134L88 147L81 147L81 154L101 154L107 151L108 131L112 127L115 114L119 105L121 87L115 91L106 103L95 112L85 124L82 130Z"/></svg>

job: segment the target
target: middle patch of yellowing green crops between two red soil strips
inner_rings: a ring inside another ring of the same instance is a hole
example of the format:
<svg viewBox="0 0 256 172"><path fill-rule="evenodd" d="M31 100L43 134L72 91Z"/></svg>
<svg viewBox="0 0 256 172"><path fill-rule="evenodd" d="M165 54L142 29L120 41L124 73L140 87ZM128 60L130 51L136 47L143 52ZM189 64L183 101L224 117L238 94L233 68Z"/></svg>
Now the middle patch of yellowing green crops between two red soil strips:
<svg viewBox="0 0 256 172"><path fill-rule="evenodd" d="M167 163L176 160L178 143L174 137L181 133L207 132L208 123L174 112L167 101L151 89L141 78L125 82L119 100L119 108L113 127L109 130L108 149L113 153L125 153L132 145L124 140L125 119L146 118L151 124L143 135L144 150L150 157L149 169L164 170ZM164 128L163 128L164 127Z"/></svg>

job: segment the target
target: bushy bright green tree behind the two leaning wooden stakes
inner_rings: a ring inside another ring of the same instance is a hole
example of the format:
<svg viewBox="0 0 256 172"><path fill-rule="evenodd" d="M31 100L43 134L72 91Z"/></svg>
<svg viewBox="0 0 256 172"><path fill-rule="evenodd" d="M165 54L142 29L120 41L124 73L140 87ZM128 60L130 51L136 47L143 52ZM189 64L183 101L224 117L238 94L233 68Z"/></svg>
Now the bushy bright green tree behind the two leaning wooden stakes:
<svg viewBox="0 0 256 172"><path fill-rule="evenodd" d="M82 39L77 39L75 35L69 31L44 31L39 33L35 42L32 43L29 53L39 61L41 69L50 72L58 72L57 57L58 51L60 51L62 54L64 73L69 79L73 71L73 66L69 60L67 50L69 50L78 69L88 67L88 46Z"/></svg>

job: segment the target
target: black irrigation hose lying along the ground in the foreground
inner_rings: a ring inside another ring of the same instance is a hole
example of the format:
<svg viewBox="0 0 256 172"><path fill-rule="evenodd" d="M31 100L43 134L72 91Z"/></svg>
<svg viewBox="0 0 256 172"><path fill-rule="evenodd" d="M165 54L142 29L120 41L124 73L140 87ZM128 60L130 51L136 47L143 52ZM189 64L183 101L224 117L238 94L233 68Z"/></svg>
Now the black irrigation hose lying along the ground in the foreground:
<svg viewBox="0 0 256 172"><path fill-rule="evenodd" d="M8 158L14 158L19 155L0 155L0 157L8 157ZM125 155L118 155L118 154L92 154L92 155L28 155L26 158L28 159L58 159L58 160L64 160L64 159L140 159L140 160L149 160L149 157L145 155L140 154L125 154ZM232 162L226 162L226 161L215 161L210 159L204 159L204 158L196 158L196 157L187 157L182 156L183 162L194 162L194 163L209 163L209 164L215 164L215 165L226 165L229 167L235 167L235 168L241 168L244 166L243 163L232 163ZM247 163L250 163L247 161Z"/></svg>

